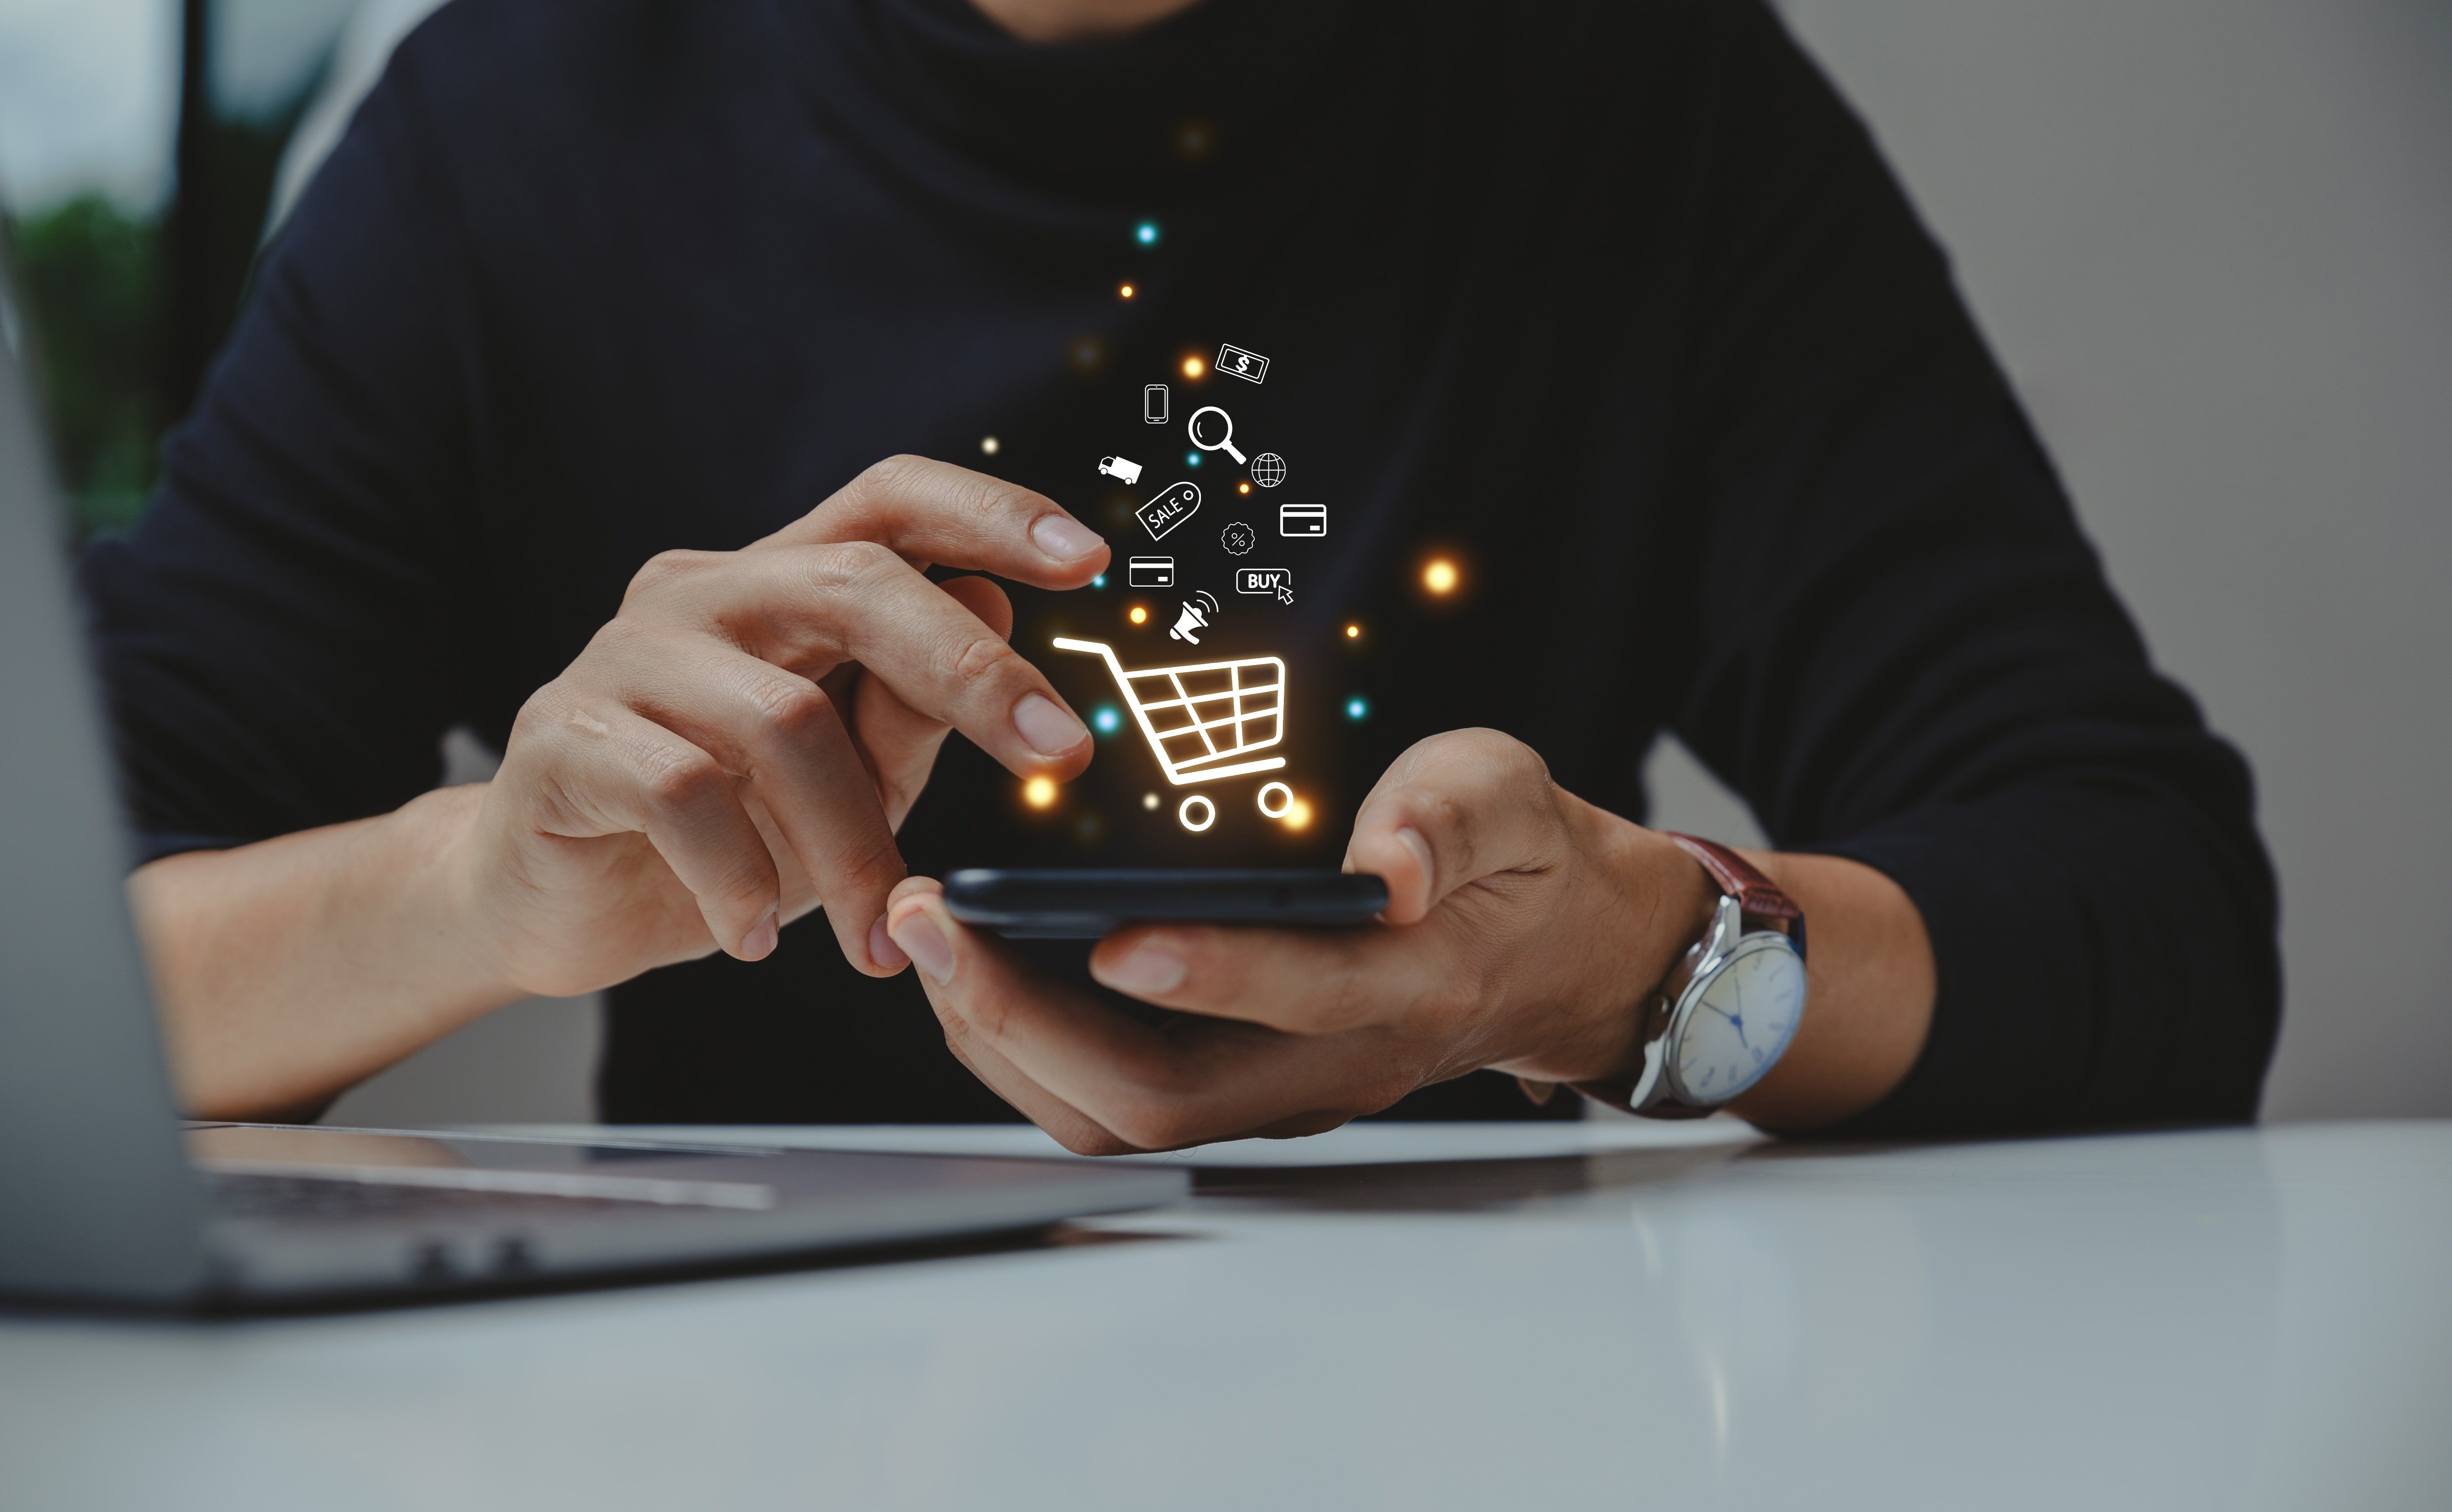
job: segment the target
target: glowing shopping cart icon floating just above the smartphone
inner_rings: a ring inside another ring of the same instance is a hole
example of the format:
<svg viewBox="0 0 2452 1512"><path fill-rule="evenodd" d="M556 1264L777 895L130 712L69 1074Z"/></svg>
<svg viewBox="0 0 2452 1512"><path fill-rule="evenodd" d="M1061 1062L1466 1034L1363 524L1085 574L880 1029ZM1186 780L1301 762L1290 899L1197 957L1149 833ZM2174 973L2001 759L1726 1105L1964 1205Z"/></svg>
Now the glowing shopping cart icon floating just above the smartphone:
<svg viewBox="0 0 2452 1512"><path fill-rule="evenodd" d="M1280 657L1236 657L1233 662L1194 662L1189 667L1143 667L1125 671L1116 647L1098 640L1054 640L1059 652L1089 652L1106 662L1123 691L1133 720L1150 740L1150 755L1175 787L1277 772L1285 757L1253 757L1285 740L1285 662ZM1285 794L1277 806L1270 796ZM1282 818L1295 806L1295 789L1270 782L1260 789L1260 814ZM1219 809L1204 794L1187 796L1175 821L1199 833L1216 823Z"/></svg>

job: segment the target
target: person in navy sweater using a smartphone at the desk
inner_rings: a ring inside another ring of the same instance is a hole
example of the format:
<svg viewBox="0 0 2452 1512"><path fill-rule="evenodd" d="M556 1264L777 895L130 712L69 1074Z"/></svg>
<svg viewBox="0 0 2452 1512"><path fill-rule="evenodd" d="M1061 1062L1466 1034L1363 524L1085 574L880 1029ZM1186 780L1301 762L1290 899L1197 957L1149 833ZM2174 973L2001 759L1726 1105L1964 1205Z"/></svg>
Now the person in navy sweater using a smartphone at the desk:
<svg viewBox="0 0 2452 1512"><path fill-rule="evenodd" d="M1175 451L1194 402L1329 534L1260 537L1265 478ZM1201 848L1076 716L1113 689L1052 635L1182 627L1106 576L1157 532L1091 473L1128 448L1209 480L1187 564L1292 571L1219 635L1282 652L1339 823ZM461 0L86 578L208 1115L601 985L618 1120L1010 1105L1125 1149L1535 1110L1486 1068L1621 1095L1719 897L1628 818L1658 728L1812 921L1738 1113L2248 1117L2273 1041L2241 762L1743 0ZM419 796L454 723L503 769ZM1253 858L1376 872L1385 921L1103 941L1167 1019L927 880Z"/></svg>

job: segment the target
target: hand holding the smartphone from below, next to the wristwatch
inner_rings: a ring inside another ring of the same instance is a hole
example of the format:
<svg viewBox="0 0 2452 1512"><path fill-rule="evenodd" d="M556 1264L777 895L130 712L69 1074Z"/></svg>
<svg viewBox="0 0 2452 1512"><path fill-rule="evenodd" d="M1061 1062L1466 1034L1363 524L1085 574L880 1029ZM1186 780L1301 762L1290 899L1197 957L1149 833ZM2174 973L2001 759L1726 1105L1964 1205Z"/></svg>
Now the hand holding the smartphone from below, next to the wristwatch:
<svg viewBox="0 0 2452 1512"><path fill-rule="evenodd" d="M1103 939L1091 975L1187 1015L1157 1029L1035 975L924 877L895 890L888 929L981 1081L1069 1149L1118 1154L1312 1135L1481 1066L1628 1076L1635 1005L1716 892L1496 730L1405 752L1363 801L1346 868L1388 882L1380 924Z"/></svg>

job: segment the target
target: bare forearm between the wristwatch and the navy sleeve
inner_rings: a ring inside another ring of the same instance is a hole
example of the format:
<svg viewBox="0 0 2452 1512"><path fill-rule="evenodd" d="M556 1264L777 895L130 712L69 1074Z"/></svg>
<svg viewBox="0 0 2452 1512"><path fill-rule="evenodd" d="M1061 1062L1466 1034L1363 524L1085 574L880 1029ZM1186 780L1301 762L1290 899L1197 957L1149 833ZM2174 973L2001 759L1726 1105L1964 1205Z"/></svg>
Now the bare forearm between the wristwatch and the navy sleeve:
<svg viewBox="0 0 2452 1512"><path fill-rule="evenodd" d="M1915 1066L1932 1027L1925 919L1890 877L1839 855L1748 850L1810 921L1805 1015L1780 1064L1731 1110L1768 1130L1864 1113Z"/></svg>

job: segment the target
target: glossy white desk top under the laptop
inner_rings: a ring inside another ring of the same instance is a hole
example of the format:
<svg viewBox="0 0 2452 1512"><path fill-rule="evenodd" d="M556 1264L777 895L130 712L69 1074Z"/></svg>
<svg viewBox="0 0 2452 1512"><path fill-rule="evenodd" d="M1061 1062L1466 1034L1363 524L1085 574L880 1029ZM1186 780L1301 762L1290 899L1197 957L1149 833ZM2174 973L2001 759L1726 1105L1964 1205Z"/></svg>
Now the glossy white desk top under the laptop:
<svg viewBox="0 0 2452 1512"><path fill-rule="evenodd" d="M981 1140L1035 1132L834 1132ZM1211 1171L1084 1225L1116 1242L260 1323L0 1316L0 1505L2452 1505L2452 1125L1265 1149L1464 1152L1513 1159Z"/></svg>

